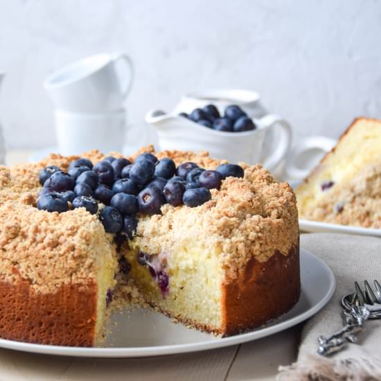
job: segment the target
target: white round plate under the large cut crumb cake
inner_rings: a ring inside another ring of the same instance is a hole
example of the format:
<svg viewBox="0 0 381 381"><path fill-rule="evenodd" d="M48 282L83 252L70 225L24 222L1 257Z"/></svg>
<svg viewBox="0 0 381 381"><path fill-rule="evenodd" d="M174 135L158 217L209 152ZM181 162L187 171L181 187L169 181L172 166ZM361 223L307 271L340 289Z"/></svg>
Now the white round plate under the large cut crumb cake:
<svg viewBox="0 0 381 381"><path fill-rule="evenodd" d="M205 351L260 339L308 319L326 305L335 290L335 277L319 258L301 249L301 297L279 319L231 337L218 338L172 323L152 310L134 310L112 316L112 333L105 348L77 348L28 344L0 339L0 347L32 353L80 357L145 357Z"/></svg>

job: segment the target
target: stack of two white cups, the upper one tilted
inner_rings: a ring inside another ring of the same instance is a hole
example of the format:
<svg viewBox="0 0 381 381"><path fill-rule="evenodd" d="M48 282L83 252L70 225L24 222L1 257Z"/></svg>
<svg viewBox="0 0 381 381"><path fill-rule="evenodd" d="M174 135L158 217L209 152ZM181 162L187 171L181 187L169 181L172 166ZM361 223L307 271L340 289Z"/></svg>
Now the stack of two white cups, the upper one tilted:
<svg viewBox="0 0 381 381"><path fill-rule="evenodd" d="M44 88L55 106L55 130L61 154L123 149L123 104L132 78L132 62L124 53L91 55L46 78Z"/></svg>

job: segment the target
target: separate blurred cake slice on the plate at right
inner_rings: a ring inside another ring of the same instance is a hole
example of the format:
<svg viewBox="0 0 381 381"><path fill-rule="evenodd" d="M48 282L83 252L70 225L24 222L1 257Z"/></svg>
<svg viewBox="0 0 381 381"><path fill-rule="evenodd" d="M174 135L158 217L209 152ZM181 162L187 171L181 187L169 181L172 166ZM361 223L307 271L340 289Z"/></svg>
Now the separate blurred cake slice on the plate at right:
<svg viewBox="0 0 381 381"><path fill-rule="evenodd" d="M296 188L301 218L381 229L381 121L357 118Z"/></svg>

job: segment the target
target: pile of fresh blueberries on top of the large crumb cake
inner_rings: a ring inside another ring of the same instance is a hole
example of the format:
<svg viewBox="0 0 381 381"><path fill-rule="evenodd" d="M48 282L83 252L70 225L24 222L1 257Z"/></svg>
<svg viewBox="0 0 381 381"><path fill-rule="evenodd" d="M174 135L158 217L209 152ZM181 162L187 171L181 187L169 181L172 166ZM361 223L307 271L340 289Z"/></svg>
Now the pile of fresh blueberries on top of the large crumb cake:
<svg viewBox="0 0 381 381"><path fill-rule="evenodd" d="M153 154L140 154L131 163L125 158L106 157L95 166L88 159L72 161L67 172L48 166L39 174L44 186L37 208L62 213L85 208L98 213L98 202L105 204L99 212L108 233L122 233L131 238L136 230L138 213L161 213L163 204L189 207L211 200L210 189L219 189L226 177L243 177L236 164L221 164L204 170L196 163L182 163L176 168L172 159L158 160Z"/></svg>

